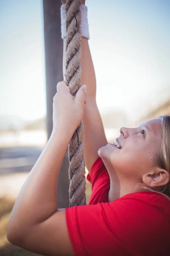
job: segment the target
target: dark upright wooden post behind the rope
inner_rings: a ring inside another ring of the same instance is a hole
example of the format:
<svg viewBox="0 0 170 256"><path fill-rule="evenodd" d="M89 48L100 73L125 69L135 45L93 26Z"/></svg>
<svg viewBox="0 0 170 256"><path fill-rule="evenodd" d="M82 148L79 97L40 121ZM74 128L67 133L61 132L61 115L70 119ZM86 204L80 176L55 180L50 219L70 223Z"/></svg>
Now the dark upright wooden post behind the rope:
<svg viewBox="0 0 170 256"><path fill-rule="evenodd" d="M43 0L48 139L53 128L53 97L56 93L57 83L63 80L63 40L61 38L60 7L61 1L59 0ZM58 178L58 208L69 207L68 166L67 151Z"/></svg>

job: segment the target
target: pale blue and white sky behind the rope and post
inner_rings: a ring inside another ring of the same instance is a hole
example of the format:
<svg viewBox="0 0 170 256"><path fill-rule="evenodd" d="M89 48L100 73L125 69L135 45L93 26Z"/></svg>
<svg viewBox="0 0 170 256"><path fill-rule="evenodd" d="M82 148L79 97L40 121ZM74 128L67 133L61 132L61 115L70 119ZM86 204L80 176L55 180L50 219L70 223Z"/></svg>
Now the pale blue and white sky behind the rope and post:
<svg viewBox="0 0 170 256"><path fill-rule="evenodd" d="M170 96L170 1L86 4L99 110L135 120ZM41 0L0 0L0 49L0 115L44 116Z"/></svg>

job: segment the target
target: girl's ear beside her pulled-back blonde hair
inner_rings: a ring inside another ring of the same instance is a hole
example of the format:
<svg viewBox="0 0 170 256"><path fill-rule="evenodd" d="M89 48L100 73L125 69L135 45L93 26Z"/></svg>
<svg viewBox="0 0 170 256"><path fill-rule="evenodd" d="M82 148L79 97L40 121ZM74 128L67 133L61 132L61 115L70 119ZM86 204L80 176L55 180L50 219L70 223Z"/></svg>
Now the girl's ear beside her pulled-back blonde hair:
<svg viewBox="0 0 170 256"><path fill-rule="evenodd" d="M150 187L164 186L170 181L170 173L159 167L143 175L142 181Z"/></svg>

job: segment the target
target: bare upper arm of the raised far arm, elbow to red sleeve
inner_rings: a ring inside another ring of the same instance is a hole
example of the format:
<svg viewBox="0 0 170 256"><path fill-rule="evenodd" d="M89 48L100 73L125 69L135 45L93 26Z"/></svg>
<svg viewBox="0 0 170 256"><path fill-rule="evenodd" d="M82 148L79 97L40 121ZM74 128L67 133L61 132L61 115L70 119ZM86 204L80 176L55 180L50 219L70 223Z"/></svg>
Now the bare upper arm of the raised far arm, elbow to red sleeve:
<svg viewBox="0 0 170 256"><path fill-rule="evenodd" d="M84 156L85 166L90 172L93 163L99 157L98 149L108 142L102 119L96 105L96 99L89 97L84 107Z"/></svg>

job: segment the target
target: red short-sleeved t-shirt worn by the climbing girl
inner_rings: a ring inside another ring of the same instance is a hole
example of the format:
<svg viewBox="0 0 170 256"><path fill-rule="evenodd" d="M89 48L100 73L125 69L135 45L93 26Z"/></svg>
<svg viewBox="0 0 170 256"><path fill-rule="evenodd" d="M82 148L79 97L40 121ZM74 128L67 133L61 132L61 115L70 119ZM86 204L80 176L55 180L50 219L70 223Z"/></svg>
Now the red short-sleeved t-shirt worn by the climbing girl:
<svg viewBox="0 0 170 256"><path fill-rule="evenodd" d="M88 180L88 205L66 208L76 256L170 256L170 201L156 192L137 192L108 203L110 179L99 157Z"/></svg>

